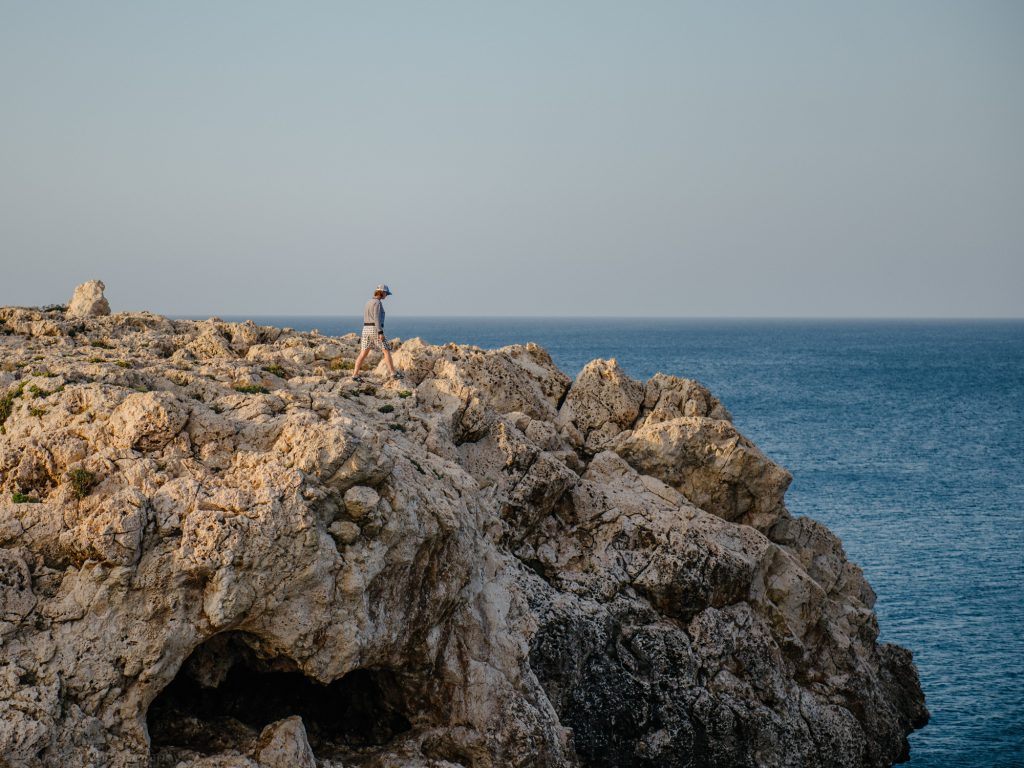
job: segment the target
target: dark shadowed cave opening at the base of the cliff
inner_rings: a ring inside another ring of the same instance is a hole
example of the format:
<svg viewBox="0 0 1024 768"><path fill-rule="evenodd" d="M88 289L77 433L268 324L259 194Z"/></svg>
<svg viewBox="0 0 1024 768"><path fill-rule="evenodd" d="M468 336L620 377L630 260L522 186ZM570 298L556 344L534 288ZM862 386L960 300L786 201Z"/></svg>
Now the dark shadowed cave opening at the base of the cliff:
<svg viewBox="0 0 1024 768"><path fill-rule="evenodd" d="M319 758L377 748L412 728L398 676L359 669L327 685L244 633L199 646L146 716L157 765L182 753L251 753L260 731L298 715Z"/></svg>

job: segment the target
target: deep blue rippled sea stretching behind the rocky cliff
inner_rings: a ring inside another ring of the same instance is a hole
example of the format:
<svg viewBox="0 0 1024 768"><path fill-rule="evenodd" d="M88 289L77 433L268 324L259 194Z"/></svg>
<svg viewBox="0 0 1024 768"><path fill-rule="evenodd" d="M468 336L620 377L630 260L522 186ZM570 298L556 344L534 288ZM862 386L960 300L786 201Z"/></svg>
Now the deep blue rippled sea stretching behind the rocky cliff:
<svg viewBox="0 0 1024 768"><path fill-rule="evenodd" d="M239 318L234 318L239 319ZM254 317L358 330L357 318ZM391 336L536 341L569 375L698 379L794 474L911 648L932 712L910 765L1024 765L1024 322L388 317Z"/></svg>

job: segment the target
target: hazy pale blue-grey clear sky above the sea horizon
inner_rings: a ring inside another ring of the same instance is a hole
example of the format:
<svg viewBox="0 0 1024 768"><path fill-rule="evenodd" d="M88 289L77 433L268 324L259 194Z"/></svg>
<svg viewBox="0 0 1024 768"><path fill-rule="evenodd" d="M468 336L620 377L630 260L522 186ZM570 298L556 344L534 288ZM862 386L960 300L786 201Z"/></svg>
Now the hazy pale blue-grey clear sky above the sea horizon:
<svg viewBox="0 0 1024 768"><path fill-rule="evenodd" d="M1024 316L1024 4L0 0L0 305Z"/></svg>

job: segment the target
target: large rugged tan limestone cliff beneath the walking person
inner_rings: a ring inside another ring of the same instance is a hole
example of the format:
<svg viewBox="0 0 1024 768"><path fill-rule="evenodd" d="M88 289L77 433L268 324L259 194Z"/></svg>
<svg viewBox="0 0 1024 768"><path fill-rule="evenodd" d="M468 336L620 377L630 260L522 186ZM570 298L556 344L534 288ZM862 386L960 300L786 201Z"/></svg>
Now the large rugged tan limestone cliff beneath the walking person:
<svg viewBox="0 0 1024 768"><path fill-rule="evenodd" d="M0 309L0 763L906 758L909 651L707 389L395 346Z"/></svg>

